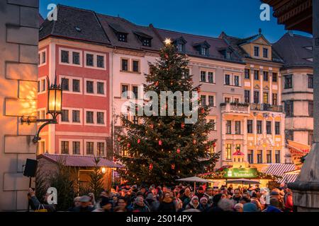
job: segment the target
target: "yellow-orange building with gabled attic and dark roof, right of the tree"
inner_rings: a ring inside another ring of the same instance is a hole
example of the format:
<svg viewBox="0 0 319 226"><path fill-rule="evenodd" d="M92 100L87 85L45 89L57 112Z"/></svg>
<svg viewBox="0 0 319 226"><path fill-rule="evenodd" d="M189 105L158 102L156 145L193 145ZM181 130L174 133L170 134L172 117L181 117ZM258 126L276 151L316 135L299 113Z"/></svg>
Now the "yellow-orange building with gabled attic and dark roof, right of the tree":
<svg viewBox="0 0 319 226"><path fill-rule="evenodd" d="M259 30L247 38L220 35L245 59L244 102L250 105L245 116L242 152L247 162L260 167L285 162L285 114L281 106L282 59ZM230 132L231 122L228 122ZM236 128L235 128L236 129Z"/></svg>

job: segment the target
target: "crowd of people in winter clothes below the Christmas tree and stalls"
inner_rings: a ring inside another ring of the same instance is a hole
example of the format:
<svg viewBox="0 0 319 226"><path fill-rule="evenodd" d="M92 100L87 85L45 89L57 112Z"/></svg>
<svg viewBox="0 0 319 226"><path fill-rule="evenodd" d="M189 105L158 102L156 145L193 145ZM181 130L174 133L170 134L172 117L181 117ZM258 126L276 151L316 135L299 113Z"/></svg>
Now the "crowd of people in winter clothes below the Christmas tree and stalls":
<svg viewBox="0 0 319 226"><path fill-rule="evenodd" d="M54 204L41 204L30 189L34 210L55 211ZM259 186L220 188L202 184L196 188L179 184L167 186L117 186L102 191L98 198L87 194L74 198L70 212L292 212L291 190L282 186L269 191Z"/></svg>

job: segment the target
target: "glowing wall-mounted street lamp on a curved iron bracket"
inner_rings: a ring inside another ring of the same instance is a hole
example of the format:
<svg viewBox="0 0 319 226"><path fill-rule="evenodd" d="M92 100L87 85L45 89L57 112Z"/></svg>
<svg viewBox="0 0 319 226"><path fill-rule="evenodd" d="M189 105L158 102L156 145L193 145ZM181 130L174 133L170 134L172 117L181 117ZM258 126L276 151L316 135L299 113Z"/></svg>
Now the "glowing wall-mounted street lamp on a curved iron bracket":
<svg viewBox="0 0 319 226"><path fill-rule="evenodd" d="M57 116L62 114L62 88L57 85L57 78L55 77L55 83L50 85L50 80L47 78L47 114L51 114L52 119L37 119L36 117L23 116L21 117L21 123L35 123L35 122L45 122L42 124L35 137L33 138L33 143L38 143L40 141L39 133L48 124L57 124Z"/></svg>

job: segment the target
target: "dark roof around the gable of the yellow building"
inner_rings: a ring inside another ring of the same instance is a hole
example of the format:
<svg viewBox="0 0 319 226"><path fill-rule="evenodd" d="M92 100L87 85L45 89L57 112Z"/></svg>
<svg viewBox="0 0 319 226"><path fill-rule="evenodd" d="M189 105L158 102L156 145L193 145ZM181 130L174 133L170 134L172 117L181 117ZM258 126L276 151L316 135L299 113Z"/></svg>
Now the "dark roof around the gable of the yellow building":
<svg viewBox="0 0 319 226"><path fill-rule="evenodd" d="M262 34L252 35L250 37L245 37L245 38L240 38L240 37L233 37L230 35L226 35L225 32L221 32L219 37L223 38L225 40L225 42L228 42L228 44L230 44L230 46L233 47L233 49L235 49L235 51L238 54L240 54L241 57L244 57L244 58L252 58L252 57L250 57L250 54L248 54L245 51L245 49L242 48L243 44L254 42L255 40L259 39L259 37L262 37L264 40L267 41L267 39ZM272 44L269 43L269 45L272 45ZM279 63L279 64L284 63L283 59L281 59L279 54L277 54L273 48L272 48L272 61L275 63Z"/></svg>

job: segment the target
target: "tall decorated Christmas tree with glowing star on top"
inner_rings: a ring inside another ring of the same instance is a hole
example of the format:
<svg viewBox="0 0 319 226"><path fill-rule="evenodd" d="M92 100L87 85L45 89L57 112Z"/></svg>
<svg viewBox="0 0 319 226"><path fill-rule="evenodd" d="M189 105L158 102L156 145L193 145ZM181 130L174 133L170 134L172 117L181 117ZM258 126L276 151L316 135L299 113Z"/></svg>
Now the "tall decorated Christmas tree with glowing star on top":
<svg viewBox="0 0 319 226"><path fill-rule="evenodd" d="M192 76L187 69L189 63L187 56L179 54L169 40L165 42L159 56L155 64L149 64L150 74L145 74L147 81L147 85L144 85L145 93L152 91L160 98L161 91L172 91L172 93L189 91L190 99L194 101L196 98L195 101L198 101L196 93L200 91L200 87L193 86ZM120 169L119 172L128 182L176 184L176 179L213 171L220 154L210 152L216 146L216 140L208 140L208 134L214 126L213 122L206 122L209 108L207 106L195 108L192 102L188 104L189 107L193 106L191 109L198 114L197 120L189 124L186 121L190 116L178 114L177 99L171 98L174 110L170 116L142 114L138 116L139 124L121 117L125 134L118 134L116 142L127 155L116 157L125 165L126 169ZM185 97L181 99L185 108ZM163 107L152 103L153 112L161 112L163 108L165 112L168 110L167 105ZM145 107L145 104L134 105L135 113L141 107Z"/></svg>

